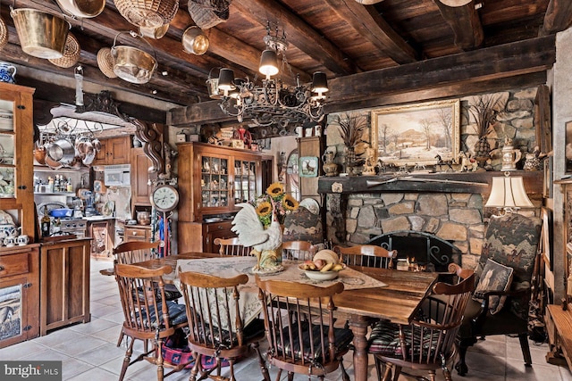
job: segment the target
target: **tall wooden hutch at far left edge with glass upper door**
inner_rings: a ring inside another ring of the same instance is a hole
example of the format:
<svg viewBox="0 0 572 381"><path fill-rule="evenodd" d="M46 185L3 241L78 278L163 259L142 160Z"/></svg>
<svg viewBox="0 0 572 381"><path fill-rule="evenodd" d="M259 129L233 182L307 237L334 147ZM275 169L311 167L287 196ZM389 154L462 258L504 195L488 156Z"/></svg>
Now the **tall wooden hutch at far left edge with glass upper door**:
<svg viewBox="0 0 572 381"><path fill-rule="evenodd" d="M34 89L0 83L0 219L30 244L0 247L0 347L39 333L39 250L33 186ZM5 317L5 318L4 318Z"/></svg>

